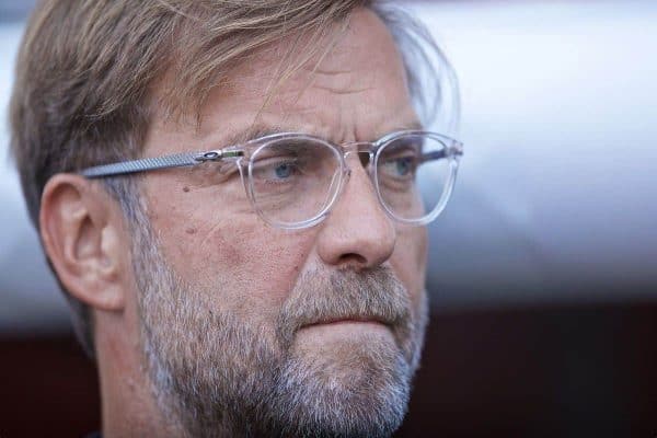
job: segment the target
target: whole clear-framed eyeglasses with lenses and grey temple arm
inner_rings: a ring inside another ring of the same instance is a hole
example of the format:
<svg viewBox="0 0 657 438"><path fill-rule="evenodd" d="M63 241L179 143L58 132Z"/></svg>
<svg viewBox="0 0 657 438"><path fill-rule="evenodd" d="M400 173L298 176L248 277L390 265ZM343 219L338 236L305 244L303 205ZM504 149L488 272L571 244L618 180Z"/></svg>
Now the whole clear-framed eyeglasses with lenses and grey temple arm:
<svg viewBox="0 0 657 438"><path fill-rule="evenodd" d="M451 196L463 145L423 130L396 131L374 142L342 146L285 132L217 150L97 165L81 174L99 178L221 163L217 171L227 177L239 173L253 209L265 222L296 230L318 224L330 214L351 174L346 161L350 154L358 155L391 218L424 226L442 212Z"/></svg>

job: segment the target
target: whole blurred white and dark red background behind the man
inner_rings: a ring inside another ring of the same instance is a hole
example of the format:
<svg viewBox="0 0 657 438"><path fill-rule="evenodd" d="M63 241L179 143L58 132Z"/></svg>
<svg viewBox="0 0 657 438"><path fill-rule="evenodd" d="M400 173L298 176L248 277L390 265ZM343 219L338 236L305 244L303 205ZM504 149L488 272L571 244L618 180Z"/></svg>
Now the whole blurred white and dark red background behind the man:
<svg viewBox="0 0 657 438"><path fill-rule="evenodd" d="M424 1L462 93L400 437L657 436L657 2ZM8 158L31 1L0 0L0 437L100 427Z"/></svg>

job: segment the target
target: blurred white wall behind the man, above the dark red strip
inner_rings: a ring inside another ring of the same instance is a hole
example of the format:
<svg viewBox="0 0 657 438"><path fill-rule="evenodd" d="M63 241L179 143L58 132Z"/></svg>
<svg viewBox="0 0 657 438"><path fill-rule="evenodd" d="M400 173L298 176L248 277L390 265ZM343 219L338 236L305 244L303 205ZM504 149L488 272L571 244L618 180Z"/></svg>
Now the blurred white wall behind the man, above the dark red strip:
<svg viewBox="0 0 657 438"><path fill-rule="evenodd" d="M418 3L461 81L439 309L657 298L657 2ZM0 331L67 326L8 148L22 24L0 24ZM648 296L646 296L648 293Z"/></svg>

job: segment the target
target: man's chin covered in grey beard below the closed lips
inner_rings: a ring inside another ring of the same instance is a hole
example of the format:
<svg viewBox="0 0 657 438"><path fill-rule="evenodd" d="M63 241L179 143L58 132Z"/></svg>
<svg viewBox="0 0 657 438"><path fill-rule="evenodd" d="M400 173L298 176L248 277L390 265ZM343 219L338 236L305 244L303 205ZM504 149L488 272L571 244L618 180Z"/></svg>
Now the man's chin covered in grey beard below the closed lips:
<svg viewBox="0 0 657 438"><path fill-rule="evenodd" d="M279 436L389 437L404 418L411 366L374 334L295 348L269 405Z"/></svg>

